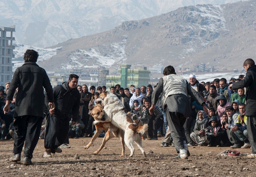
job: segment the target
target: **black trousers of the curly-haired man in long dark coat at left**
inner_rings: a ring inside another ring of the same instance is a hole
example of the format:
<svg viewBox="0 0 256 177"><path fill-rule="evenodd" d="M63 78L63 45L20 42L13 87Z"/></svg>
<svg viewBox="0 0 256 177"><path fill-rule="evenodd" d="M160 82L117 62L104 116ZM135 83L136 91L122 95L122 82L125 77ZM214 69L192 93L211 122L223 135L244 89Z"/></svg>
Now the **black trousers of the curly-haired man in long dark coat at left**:
<svg viewBox="0 0 256 177"><path fill-rule="evenodd" d="M22 151L24 141L24 157L32 158L33 151L36 147L40 136L40 130L43 122L43 117L38 116L18 116L13 122L14 127L14 148L13 153L19 154Z"/></svg>

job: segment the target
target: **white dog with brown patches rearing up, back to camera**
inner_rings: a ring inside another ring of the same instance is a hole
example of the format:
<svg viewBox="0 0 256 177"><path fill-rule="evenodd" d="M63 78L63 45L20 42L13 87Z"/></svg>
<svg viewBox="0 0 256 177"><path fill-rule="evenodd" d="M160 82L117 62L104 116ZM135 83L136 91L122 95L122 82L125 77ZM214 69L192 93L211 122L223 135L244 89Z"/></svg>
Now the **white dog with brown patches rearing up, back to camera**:
<svg viewBox="0 0 256 177"><path fill-rule="evenodd" d="M138 126L136 123L133 123L130 117L125 113L124 105L113 93L101 93L96 102L101 101L101 99L103 100L102 105L104 105L105 121L101 119L97 121L111 122L114 126L125 131L124 141L131 151L130 157L134 154L133 141L135 141L143 156L146 157L146 152L142 147L141 135L147 131L148 125L144 124L143 126Z"/></svg>

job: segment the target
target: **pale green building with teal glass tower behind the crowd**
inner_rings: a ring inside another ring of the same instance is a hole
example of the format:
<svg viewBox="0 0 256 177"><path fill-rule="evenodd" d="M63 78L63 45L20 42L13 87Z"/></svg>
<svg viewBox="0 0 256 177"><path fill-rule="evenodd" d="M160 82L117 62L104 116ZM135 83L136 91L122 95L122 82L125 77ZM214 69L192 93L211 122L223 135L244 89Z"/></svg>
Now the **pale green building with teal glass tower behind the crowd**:
<svg viewBox="0 0 256 177"><path fill-rule="evenodd" d="M136 87L147 86L150 82L150 70L147 70L147 67L131 69L131 66L131 64L120 64L118 68L120 75L107 75L106 87L110 88L116 84L120 84L123 88L130 88L131 84Z"/></svg>

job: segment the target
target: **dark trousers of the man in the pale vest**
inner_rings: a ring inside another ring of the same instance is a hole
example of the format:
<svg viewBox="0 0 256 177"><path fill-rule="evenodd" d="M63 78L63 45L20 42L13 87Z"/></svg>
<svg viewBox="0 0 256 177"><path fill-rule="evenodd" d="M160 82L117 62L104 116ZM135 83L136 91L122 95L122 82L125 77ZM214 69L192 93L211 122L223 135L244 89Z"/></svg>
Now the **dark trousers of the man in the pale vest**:
<svg viewBox="0 0 256 177"><path fill-rule="evenodd" d="M165 116L170 127L175 149L179 152L180 149L184 149L184 141L187 141L184 130L184 124L187 118L181 113L169 112L168 109L165 109Z"/></svg>

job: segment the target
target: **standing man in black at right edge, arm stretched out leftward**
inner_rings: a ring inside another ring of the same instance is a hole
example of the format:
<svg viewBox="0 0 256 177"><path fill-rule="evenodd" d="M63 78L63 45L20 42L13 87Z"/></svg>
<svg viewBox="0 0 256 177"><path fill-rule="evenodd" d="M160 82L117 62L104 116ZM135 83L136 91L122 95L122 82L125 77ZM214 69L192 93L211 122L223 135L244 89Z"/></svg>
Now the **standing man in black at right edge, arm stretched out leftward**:
<svg viewBox="0 0 256 177"><path fill-rule="evenodd" d="M248 58L244 61L243 67L246 71L244 79L231 84L230 87L232 90L246 87L247 132L252 147L251 156L256 156L256 66L255 62Z"/></svg>

